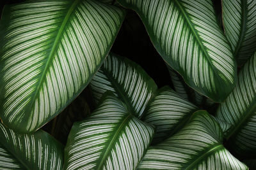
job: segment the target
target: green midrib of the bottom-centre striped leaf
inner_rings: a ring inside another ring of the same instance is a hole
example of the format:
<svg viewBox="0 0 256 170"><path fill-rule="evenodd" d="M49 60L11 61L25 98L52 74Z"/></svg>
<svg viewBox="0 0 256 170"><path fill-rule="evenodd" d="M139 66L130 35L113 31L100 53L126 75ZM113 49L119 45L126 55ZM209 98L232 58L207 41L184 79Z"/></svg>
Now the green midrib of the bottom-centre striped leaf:
<svg viewBox="0 0 256 170"><path fill-rule="evenodd" d="M131 119L131 117L132 117L132 114L129 113L129 115L127 115L127 117L125 117L124 120L122 120L120 126L118 126L118 129L115 130L115 134L114 134L113 138L111 138L108 148L106 148L106 152L104 152L104 155L99 158L100 163L99 163L99 166L97 167L97 170L103 169L104 163L106 162L106 159L109 156L109 152L113 148L113 145L115 144L115 141L118 138L118 136L120 136L120 131L122 131L122 129L124 129L125 125Z"/></svg>

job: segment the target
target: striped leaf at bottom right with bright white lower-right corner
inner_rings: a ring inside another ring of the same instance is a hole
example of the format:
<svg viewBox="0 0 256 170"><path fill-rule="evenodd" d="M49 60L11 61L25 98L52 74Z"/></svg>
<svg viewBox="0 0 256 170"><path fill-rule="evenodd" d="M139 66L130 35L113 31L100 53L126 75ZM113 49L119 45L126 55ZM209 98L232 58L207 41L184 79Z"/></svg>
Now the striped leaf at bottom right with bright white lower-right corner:
<svg viewBox="0 0 256 170"><path fill-rule="evenodd" d="M219 125L206 111L163 143L150 146L138 169L248 169L221 144Z"/></svg>

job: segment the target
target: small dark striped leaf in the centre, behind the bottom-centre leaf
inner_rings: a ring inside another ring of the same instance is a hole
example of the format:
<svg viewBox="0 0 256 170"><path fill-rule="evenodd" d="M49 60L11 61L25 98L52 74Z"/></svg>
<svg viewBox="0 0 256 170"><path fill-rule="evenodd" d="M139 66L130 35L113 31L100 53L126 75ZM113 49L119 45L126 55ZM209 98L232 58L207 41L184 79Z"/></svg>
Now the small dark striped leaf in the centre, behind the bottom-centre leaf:
<svg viewBox="0 0 256 170"><path fill-rule="evenodd" d="M156 83L136 63L110 54L90 82L96 103L110 90L123 101L129 111L141 117L148 100L157 89Z"/></svg>

